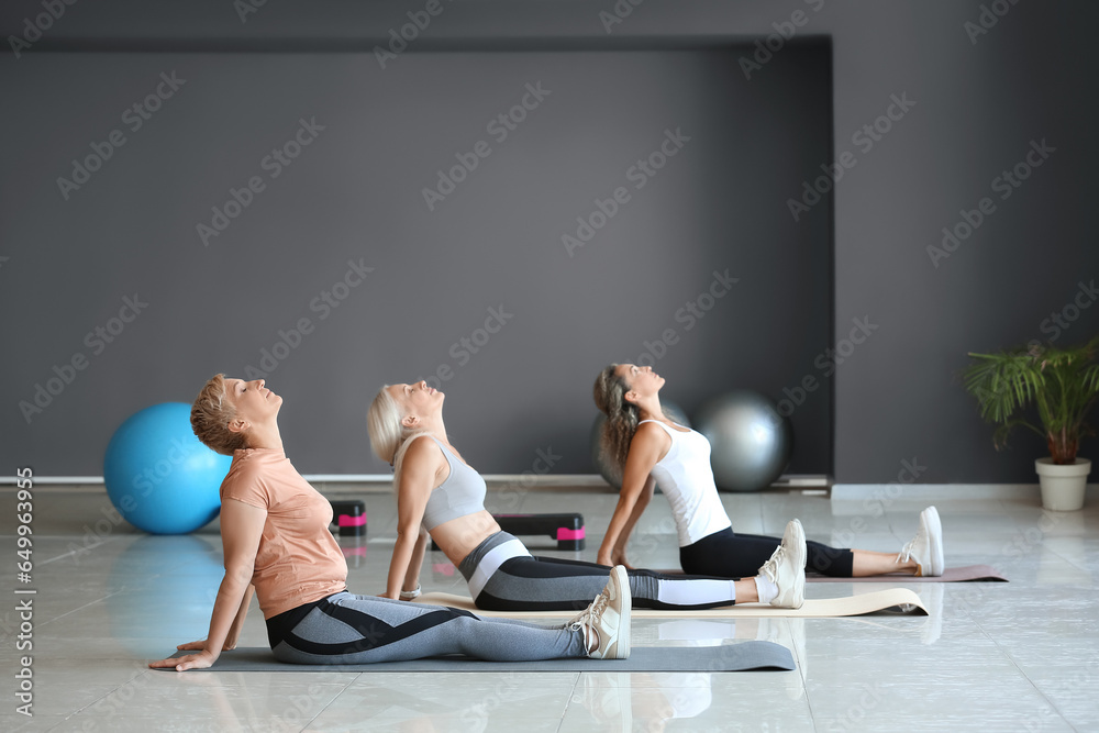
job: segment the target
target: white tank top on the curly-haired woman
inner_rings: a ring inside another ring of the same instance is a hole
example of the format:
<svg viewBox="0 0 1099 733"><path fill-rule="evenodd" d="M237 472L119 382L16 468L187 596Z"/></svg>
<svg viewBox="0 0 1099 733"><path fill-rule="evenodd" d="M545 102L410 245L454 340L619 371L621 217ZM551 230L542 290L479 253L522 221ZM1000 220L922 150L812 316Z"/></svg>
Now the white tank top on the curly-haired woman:
<svg viewBox="0 0 1099 733"><path fill-rule="evenodd" d="M692 545L702 537L732 526L721 506L710 468L710 442L693 430L684 433L659 420L655 422L671 436L668 453L653 466L653 478L671 504L679 533L679 546Z"/></svg>

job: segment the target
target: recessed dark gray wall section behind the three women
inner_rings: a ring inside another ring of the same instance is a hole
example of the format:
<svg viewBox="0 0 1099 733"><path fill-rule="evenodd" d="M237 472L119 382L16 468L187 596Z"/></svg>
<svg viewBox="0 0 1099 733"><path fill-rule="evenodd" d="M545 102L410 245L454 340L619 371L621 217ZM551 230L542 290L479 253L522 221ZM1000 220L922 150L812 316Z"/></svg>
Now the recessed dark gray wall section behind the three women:
<svg viewBox="0 0 1099 733"><path fill-rule="evenodd" d="M829 49L790 51L759 85L740 53L420 51L382 70L369 53L55 51L9 65L23 104L3 123L21 146L2 302L25 357L7 445L38 474L96 474L126 415L189 401L218 370L262 371L301 470L376 473L366 406L423 377L482 470L520 473L543 449L555 473L587 473L593 378L646 342L688 411L732 386L781 395L829 340L826 210L798 226L773 206L828 156ZM162 73L184 81L134 130L120 113ZM529 116L488 124L511 109ZM323 130L281 170L265 164L299 120ZM57 177L115 127L126 142L66 199ZM489 155L429 207L437 169L479 141ZM662 148L663 168L635 167ZM215 234L211 208L252 176L263 190ZM579 236L596 199L620 210L569 251L563 233ZM22 308L43 295L47 309ZM87 340L123 297L147 307L116 341ZM685 308L700 297L701 318ZM74 353L88 367L24 415ZM828 408L796 415L791 470L831 470Z"/></svg>

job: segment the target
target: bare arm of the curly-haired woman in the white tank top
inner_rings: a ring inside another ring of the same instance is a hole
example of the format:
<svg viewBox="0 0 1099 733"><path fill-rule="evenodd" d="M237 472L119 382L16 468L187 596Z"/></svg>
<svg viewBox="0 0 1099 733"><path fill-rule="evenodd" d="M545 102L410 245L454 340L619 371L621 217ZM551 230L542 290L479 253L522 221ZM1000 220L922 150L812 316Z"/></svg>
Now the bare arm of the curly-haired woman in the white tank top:
<svg viewBox="0 0 1099 733"><path fill-rule="evenodd" d="M618 506L614 507L607 535L599 547L600 564L612 565L615 553L624 552L630 533L648 506L656 487L650 474L656 462L667 452L670 443L668 434L656 425L642 425L634 433L630 442L630 454L625 459L625 469L622 471L622 490L619 492Z"/></svg>

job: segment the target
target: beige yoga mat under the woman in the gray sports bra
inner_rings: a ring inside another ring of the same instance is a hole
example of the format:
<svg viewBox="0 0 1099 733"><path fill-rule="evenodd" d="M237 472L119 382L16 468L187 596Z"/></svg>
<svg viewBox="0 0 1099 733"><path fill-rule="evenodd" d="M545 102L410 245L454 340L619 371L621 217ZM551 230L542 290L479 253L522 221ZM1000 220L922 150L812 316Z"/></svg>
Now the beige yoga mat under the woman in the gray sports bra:
<svg viewBox="0 0 1099 733"><path fill-rule="evenodd" d="M471 611L477 615L503 617L508 619L571 619L576 611L481 611L474 606L468 596L454 593L424 593L415 600L417 603L431 606L449 606L451 608ZM843 598L818 598L806 600L800 609L777 609L762 603L744 603L741 606L721 606L702 610L655 610L634 609L634 619L681 619L710 618L730 619L736 617L801 617L826 618L844 615L865 615L893 609L897 612L912 615L929 615L928 609L920 602L920 597L909 588L890 588L869 593L844 596Z"/></svg>

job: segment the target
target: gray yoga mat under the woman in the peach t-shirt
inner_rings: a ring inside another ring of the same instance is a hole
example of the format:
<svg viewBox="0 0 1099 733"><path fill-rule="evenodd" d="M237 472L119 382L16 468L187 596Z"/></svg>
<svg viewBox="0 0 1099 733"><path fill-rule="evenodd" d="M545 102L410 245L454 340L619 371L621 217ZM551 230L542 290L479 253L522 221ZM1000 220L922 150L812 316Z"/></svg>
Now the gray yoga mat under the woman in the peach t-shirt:
<svg viewBox="0 0 1099 733"><path fill-rule="evenodd" d="M190 652L177 652L180 657ZM544 659L484 662L468 657L431 657L377 664L286 664L260 646L222 652L212 667L190 671L762 671L796 669L781 644L739 642L722 646L635 646L629 659ZM167 671L175 671L168 667Z"/></svg>

